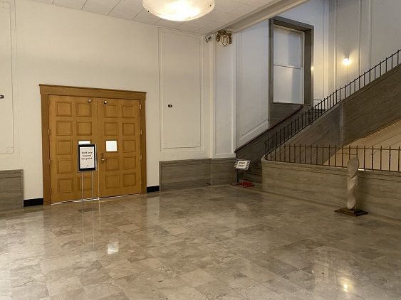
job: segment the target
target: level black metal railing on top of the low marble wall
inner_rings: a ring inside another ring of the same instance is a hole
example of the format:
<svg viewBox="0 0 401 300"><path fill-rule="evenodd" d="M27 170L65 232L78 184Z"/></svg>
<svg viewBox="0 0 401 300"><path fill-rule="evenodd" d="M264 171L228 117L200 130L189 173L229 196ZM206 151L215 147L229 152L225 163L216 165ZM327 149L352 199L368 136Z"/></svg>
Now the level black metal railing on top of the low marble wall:
<svg viewBox="0 0 401 300"><path fill-rule="evenodd" d="M283 144L266 156L268 161L346 168L353 157L360 159L360 169L400 172L401 146L301 145Z"/></svg>

